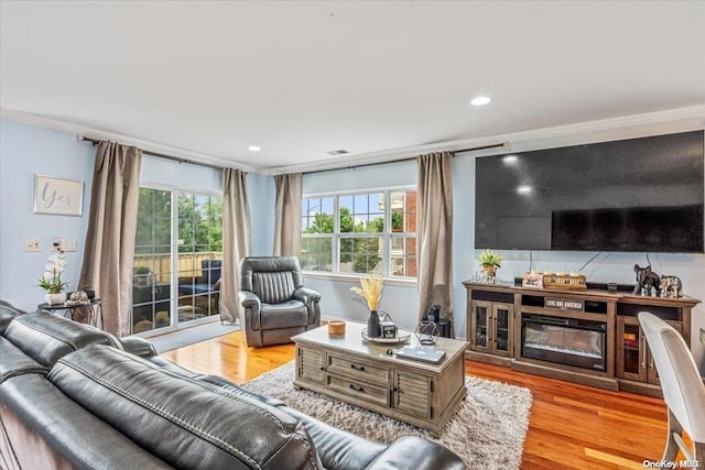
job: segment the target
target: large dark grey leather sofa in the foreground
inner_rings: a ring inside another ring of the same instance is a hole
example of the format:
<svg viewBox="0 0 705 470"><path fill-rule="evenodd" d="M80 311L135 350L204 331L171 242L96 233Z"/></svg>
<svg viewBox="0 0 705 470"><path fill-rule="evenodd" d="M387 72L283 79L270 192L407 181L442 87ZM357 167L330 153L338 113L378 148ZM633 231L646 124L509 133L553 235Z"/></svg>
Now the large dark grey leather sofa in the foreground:
<svg viewBox="0 0 705 470"><path fill-rule="evenodd" d="M463 469L419 437L383 445L54 314L0 304L0 468Z"/></svg>

